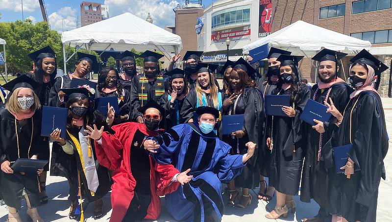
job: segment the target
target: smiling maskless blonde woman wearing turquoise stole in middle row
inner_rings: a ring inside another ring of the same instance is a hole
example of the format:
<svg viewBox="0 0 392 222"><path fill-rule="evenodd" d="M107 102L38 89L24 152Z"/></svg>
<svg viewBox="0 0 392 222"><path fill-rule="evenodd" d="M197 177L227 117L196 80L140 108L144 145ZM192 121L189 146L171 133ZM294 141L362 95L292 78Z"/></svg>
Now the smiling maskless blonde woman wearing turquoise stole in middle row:
<svg viewBox="0 0 392 222"><path fill-rule="evenodd" d="M185 123L194 121L194 113L199 106L209 106L221 110L222 94L212 74L217 67L218 65L207 63L197 65L197 84L189 92L181 108L181 116L185 119Z"/></svg>

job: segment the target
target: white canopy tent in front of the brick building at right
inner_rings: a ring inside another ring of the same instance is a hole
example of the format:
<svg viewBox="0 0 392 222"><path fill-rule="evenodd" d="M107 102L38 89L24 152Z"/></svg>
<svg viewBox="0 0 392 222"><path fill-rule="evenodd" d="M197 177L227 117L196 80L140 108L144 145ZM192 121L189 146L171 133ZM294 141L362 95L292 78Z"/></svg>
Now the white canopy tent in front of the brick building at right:
<svg viewBox="0 0 392 222"><path fill-rule="evenodd" d="M297 21L267 37L244 46L243 51L247 53L249 50L267 43L269 47L289 50L293 52L293 55L304 55L308 58L313 57L322 48L349 54L371 48L369 41L360 40L304 21Z"/></svg>

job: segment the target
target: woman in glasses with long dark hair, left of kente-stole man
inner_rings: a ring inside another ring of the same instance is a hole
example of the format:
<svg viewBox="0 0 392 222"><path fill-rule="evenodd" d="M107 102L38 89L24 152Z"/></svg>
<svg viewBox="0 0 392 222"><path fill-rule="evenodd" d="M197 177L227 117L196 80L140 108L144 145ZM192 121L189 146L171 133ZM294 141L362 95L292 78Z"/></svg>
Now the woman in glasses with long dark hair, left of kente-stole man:
<svg viewBox="0 0 392 222"><path fill-rule="evenodd" d="M101 70L98 76L98 90L101 97L118 98L120 112L114 116L114 125L130 121L131 98L129 91L123 88L119 72L115 68L105 67Z"/></svg>

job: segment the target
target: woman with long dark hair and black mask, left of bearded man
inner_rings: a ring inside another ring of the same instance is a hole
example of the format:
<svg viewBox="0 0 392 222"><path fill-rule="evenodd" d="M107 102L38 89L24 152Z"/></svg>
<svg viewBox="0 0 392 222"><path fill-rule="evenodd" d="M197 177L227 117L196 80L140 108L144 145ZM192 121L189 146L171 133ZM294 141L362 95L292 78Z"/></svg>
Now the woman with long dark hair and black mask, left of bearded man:
<svg viewBox="0 0 392 222"><path fill-rule="evenodd" d="M280 55L279 83L272 95L288 95L290 106L283 106L287 116L268 116L263 141L264 166L270 186L276 189L276 206L266 215L269 219L287 217L295 212L293 196L298 193L306 146L306 124L299 119L310 90L301 87L298 61L303 56Z"/></svg>

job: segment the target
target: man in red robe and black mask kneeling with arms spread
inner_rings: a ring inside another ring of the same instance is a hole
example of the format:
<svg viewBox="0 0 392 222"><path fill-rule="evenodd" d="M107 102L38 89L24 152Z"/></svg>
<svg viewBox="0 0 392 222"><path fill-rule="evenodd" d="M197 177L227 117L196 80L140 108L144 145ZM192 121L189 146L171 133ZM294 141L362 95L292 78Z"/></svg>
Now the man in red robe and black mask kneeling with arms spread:
<svg viewBox="0 0 392 222"><path fill-rule="evenodd" d="M139 111L145 123L122 123L109 132L95 125L86 130L95 140L100 165L114 170L110 222L156 220L161 211L159 196L174 192L192 178L187 175L190 170L179 173L172 165L157 164L144 148L146 137L163 133L158 130L162 107L151 100Z"/></svg>

